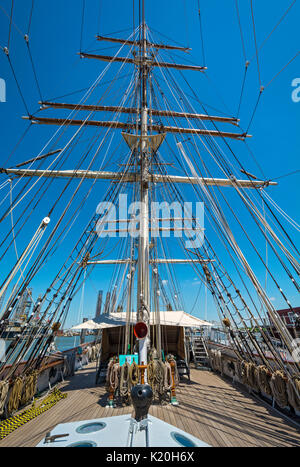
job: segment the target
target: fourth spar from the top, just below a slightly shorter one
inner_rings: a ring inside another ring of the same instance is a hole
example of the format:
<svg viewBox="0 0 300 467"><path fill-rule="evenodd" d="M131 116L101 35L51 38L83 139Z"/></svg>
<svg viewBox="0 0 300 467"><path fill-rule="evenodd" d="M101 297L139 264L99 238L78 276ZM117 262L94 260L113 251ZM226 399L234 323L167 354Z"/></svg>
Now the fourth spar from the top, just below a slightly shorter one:
<svg viewBox="0 0 300 467"><path fill-rule="evenodd" d="M32 123L45 124L45 125L87 125L87 126L100 126L105 128L119 128L122 130L135 130L135 123L123 123L116 121L98 121L98 120L71 120L66 118L47 118L47 117L33 117L25 116L25 119L31 120ZM152 125L152 131L157 131L159 133L168 132L168 133L183 133L183 134L196 134L196 135L208 135L208 136L220 136L224 138L232 138L237 140L244 140L247 135L246 133L229 133L224 131L217 130L201 130L199 128L180 128L174 126L164 126L164 125Z"/></svg>

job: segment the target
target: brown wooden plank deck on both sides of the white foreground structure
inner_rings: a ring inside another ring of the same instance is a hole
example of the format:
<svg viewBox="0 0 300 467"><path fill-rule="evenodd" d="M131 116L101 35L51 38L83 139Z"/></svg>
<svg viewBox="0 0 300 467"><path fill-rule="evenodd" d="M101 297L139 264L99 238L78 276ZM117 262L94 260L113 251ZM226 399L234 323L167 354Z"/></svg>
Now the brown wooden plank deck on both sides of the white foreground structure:
<svg viewBox="0 0 300 467"><path fill-rule="evenodd" d="M131 407L106 408L104 386L95 386L95 365L66 381L68 393L47 412L0 441L0 447L36 446L59 423L129 414ZM300 446L300 431L267 405L258 403L209 371L191 371L191 382L177 390L180 405L150 408L150 414L214 447Z"/></svg>

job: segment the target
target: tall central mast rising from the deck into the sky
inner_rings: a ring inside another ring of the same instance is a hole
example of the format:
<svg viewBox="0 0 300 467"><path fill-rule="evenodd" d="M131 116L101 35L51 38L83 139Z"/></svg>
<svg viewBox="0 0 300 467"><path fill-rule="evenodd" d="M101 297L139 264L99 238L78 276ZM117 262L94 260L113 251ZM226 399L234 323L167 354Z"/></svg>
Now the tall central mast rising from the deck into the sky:
<svg viewBox="0 0 300 467"><path fill-rule="evenodd" d="M140 79L141 79L141 137L140 137L140 235L138 247L138 296L137 322L144 322L149 327L150 292L149 292L149 158L148 158L148 107L147 107L147 39L145 23L145 2L142 2L142 37L140 41ZM138 114L137 114L138 115ZM140 364L147 364L149 337L139 340Z"/></svg>

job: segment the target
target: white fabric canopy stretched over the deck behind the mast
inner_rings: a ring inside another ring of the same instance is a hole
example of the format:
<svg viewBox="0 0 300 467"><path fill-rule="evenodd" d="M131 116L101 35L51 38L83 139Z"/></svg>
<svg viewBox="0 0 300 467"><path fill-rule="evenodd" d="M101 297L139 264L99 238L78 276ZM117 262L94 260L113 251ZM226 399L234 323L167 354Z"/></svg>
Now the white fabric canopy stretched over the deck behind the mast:
<svg viewBox="0 0 300 467"><path fill-rule="evenodd" d="M150 324L156 324L155 313L150 314ZM131 317L130 324L135 324L136 319ZM184 311L160 311L160 324L164 326L200 327L212 326L212 323L196 318ZM105 329L126 325L126 312L101 315L84 323L77 324L71 329Z"/></svg>

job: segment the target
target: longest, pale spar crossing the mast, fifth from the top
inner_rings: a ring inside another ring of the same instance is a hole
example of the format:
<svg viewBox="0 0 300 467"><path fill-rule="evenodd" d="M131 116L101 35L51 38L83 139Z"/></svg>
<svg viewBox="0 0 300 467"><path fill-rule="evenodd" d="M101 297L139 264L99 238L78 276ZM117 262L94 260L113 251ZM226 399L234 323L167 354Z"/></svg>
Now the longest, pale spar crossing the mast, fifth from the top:
<svg viewBox="0 0 300 467"><path fill-rule="evenodd" d="M134 172L98 172L92 170L32 170L32 169L4 169L0 173L13 174L19 177L49 177L49 178L85 178L99 180L122 180L122 182L134 183L139 181L138 174ZM202 178L182 177L177 175L150 174L149 181L152 183L203 183L207 186L232 187L235 184L243 188L261 188L276 186L277 182L259 180L231 180L228 178Z"/></svg>

